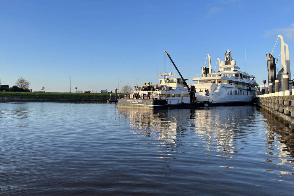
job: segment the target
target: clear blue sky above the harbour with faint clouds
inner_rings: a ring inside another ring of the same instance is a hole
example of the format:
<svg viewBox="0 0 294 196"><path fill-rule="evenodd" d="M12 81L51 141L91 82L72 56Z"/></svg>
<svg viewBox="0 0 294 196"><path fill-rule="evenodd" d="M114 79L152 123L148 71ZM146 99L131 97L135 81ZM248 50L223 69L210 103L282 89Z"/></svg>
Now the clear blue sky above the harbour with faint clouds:
<svg viewBox="0 0 294 196"><path fill-rule="evenodd" d="M0 74L10 87L25 77L33 91L69 92L69 76L72 92L110 90L118 79L120 87L137 78L158 83L158 71L174 70L164 50L193 78L207 53L214 68L230 49L241 71L246 50L246 72L261 85L278 34L294 63L293 8L294 1L0 1Z"/></svg>

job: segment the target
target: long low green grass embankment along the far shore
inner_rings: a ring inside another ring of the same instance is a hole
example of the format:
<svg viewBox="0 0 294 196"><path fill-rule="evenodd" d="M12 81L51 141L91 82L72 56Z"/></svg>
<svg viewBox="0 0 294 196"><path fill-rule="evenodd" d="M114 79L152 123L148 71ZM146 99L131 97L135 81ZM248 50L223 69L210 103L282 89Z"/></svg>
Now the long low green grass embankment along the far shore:
<svg viewBox="0 0 294 196"><path fill-rule="evenodd" d="M112 93L114 95L114 93ZM125 95L120 93L120 96ZM109 93L0 92L8 100L108 100Z"/></svg>

